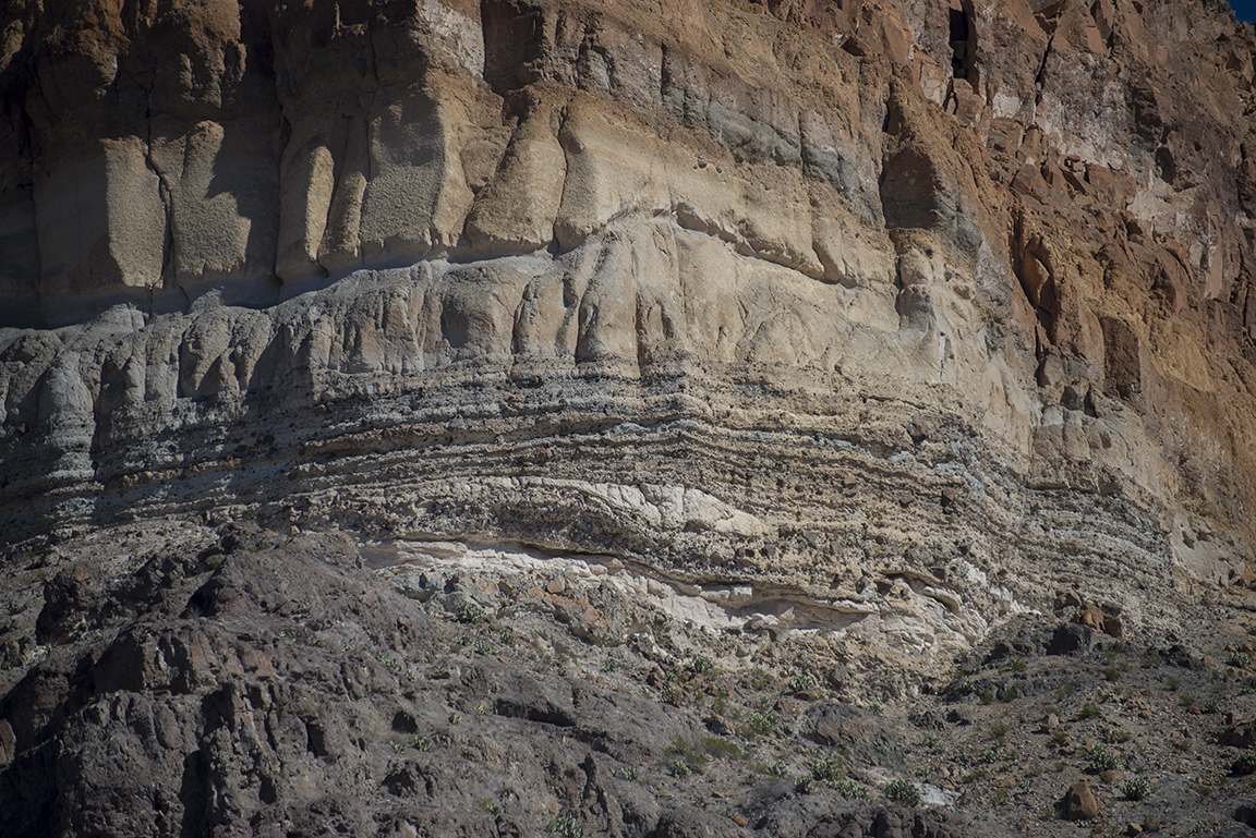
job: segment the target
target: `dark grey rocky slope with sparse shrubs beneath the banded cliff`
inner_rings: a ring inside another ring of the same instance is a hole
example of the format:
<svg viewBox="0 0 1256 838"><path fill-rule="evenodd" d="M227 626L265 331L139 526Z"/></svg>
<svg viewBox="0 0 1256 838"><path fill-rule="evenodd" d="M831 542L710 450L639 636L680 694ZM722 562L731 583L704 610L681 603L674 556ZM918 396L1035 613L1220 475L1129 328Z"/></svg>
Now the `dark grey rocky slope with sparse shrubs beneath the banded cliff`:
<svg viewBox="0 0 1256 838"><path fill-rule="evenodd" d="M9 551L4 834L1252 834L1246 611L1113 637L1064 591L853 704L799 632L599 635L627 612L553 567L494 601L372 554L173 519Z"/></svg>

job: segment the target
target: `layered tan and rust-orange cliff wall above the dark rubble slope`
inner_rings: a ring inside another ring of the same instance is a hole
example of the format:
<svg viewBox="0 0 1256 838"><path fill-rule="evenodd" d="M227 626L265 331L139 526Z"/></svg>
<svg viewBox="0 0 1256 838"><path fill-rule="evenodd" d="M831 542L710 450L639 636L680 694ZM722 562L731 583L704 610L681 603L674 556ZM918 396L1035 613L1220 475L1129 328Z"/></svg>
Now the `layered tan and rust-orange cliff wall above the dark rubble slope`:
<svg viewBox="0 0 1256 838"><path fill-rule="evenodd" d="M1060 586L1172 618L1252 557L1226 9L5 14L6 542L475 533L750 581L897 654Z"/></svg>

